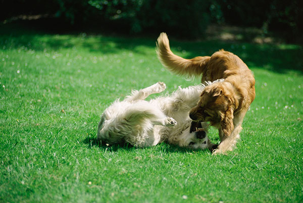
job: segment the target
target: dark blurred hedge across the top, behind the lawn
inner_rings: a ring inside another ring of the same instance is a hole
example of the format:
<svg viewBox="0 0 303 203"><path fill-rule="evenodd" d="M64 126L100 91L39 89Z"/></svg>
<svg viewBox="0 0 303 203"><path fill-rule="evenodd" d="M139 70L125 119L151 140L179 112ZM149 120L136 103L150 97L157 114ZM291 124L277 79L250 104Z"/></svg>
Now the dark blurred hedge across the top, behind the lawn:
<svg viewBox="0 0 303 203"><path fill-rule="evenodd" d="M123 33L174 32L203 36L210 24L259 27L300 37L302 0L1 0L0 18L52 18L64 26L96 26ZM56 25L55 25L56 26Z"/></svg>

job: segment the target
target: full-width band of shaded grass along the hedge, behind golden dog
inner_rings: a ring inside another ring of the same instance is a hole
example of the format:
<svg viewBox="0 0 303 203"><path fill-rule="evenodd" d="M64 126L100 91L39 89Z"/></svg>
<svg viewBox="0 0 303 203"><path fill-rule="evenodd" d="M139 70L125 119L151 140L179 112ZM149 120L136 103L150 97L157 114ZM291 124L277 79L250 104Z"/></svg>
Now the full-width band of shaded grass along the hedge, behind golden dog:
<svg viewBox="0 0 303 203"><path fill-rule="evenodd" d="M121 54L126 51L146 56L150 55L150 49L156 47L158 37L158 35L153 36L154 38L113 37L86 35L85 33L55 35L42 31L28 30L18 24L0 25L0 34L0 49L27 47L27 49L42 52L44 49L47 49L47 51L58 51L58 49L75 47L96 55ZM184 58L210 56L223 48L238 55L252 69L266 69L281 74L288 71L296 71L298 74L303 74L303 48L300 45L258 44L244 40L204 40L193 42L176 41L173 37L169 38L173 52ZM142 47L149 48L149 51L146 52L146 49Z"/></svg>

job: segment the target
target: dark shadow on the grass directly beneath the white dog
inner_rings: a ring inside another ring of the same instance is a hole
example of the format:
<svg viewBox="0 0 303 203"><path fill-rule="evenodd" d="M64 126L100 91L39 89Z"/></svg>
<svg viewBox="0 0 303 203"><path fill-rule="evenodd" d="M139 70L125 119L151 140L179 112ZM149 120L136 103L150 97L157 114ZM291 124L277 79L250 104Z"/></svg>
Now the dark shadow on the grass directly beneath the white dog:
<svg viewBox="0 0 303 203"><path fill-rule="evenodd" d="M124 150L135 150L138 149L138 147L132 146L129 143L120 143L120 144L107 144L102 141L97 141L96 138L87 137L83 140L84 144L87 144L88 148L91 148L93 146L103 148L105 150L109 151L117 151L118 149L124 149ZM175 145L170 145L168 143L160 143L157 146L157 151L161 151L162 153L196 153L197 151L205 151L210 153L209 149L190 149L190 148L183 148ZM148 147L149 148L149 147Z"/></svg>

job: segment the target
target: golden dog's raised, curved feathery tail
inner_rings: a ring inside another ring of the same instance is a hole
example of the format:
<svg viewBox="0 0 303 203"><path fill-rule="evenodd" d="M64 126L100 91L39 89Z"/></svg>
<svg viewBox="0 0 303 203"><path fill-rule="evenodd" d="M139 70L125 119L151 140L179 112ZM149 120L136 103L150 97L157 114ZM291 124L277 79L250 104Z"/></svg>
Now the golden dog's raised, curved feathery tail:
<svg viewBox="0 0 303 203"><path fill-rule="evenodd" d="M175 55L170 49L167 34L164 32L160 34L156 44L157 55L162 65L178 75L201 75L211 59L211 57L183 59L182 57Z"/></svg>

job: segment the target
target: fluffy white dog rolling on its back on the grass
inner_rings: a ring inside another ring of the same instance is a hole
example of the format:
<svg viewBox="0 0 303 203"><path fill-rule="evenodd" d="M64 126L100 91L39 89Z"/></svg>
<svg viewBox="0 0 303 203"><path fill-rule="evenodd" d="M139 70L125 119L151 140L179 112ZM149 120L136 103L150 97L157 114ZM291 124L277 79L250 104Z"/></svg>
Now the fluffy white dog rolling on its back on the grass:
<svg viewBox="0 0 303 203"><path fill-rule="evenodd" d="M181 147L211 149L214 144L207 136L208 124L198 122L192 127L194 129L190 129L191 119L188 116L205 85L179 87L170 96L144 100L165 88L164 83L158 82L139 91L133 90L121 102L116 100L101 116L97 141L109 144L128 142L138 147L154 146L165 141Z"/></svg>

